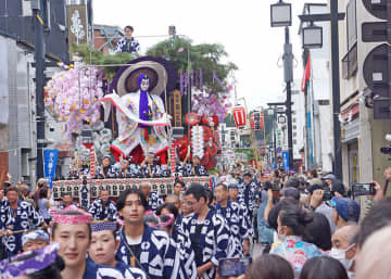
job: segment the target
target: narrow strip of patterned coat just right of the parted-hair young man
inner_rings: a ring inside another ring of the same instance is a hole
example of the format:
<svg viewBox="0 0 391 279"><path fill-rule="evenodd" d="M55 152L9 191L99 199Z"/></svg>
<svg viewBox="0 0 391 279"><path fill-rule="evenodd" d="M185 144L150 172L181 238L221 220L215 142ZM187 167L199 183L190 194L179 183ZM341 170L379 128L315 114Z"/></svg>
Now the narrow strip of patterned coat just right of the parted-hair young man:
<svg viewBox="0 0 391 279"><path fill-rule="evenodd" d="M195 254L192 250L190 239L186 236L182 228L178 225L174 226L172 238L177 244L177 248L180 252L180 261L185 265L188 277L191 279L197 279Z"/></svg>

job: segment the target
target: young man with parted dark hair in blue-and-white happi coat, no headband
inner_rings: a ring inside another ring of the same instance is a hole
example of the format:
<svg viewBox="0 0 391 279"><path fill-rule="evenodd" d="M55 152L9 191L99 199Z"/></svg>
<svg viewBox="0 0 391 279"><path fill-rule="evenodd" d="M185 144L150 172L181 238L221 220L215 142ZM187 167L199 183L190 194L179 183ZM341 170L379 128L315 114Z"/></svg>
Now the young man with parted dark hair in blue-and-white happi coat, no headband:
<svg viewBox="0 0 391 279"><path fill-rule="evenodd" d="M149 279L188 278L180 253L167 232L143 223L147 200L138 189L128 189L117 201L124 219L117 258L142 269Z"/></svg>

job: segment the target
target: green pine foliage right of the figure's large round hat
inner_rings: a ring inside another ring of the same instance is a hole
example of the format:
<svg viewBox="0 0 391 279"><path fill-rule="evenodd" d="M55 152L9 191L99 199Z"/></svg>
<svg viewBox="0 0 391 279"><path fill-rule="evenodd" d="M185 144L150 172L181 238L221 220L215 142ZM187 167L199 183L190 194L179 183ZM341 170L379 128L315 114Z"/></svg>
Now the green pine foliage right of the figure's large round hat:
<svg viewBox="0 0 391 279"><path fill-rule="evenodd" d="M162 56L171 61L179 73L180 69L184 73L188 68L188 52L190 52L190 67L193 69L202 69L203 84L213 92L223 92L225 88L222 88L217 81L213 81L213 71L216 71L217 77L226 86L226 79L232 71L238 69L234 63L223 63L228 54L224 47L218 43L202 43L192 45L191 40L184 38L167 39L156 43L150 48L147 52L150 56Z"/></svg>

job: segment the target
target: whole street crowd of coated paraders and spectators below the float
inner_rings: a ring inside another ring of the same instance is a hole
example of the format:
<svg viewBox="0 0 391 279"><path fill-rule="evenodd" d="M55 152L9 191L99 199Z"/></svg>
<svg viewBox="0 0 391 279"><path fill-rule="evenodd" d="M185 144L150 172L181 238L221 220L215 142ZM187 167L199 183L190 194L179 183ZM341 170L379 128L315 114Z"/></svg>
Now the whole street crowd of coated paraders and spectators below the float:
<svg viewBox="0 0 391 279"><path fill-rule="evenodd" d="M70 194L54 206L45 179L34 192L9 183L0 191L0 277L389 277L391 202L376 181L363 217L332 174L234 169L217 180L213 189L177 180L167 196L144 180L116 201L102 190L87 208ZM225 262L251 257L245 274Z"/></svg>

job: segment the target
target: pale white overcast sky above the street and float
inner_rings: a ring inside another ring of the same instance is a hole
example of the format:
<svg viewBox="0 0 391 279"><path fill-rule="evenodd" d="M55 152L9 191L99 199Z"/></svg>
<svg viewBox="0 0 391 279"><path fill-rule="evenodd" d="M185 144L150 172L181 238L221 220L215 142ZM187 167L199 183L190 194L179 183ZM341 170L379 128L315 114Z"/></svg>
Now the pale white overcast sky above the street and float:
<svg viewBox="0 0 391 279"><path fill-rule="evenodd" d="M94 24L131 25L141 45L141 53L164 40L168 26L186 35L194 43L220 43L228 60L239 69L235 72L238 97L244 97L247 106L266 106L267 102L285 101L283 28L270 27L270 4L277 0L94 0ZM290 37L293 43L295 85L302 78L301 37L298 35L304 2L327 3L327 0L286 0L292 3L293 24ZM279 61L279 63L278 63ZM278 65L279 64L279 65ZM299 85L298 85L299 84Z"/></svg>

